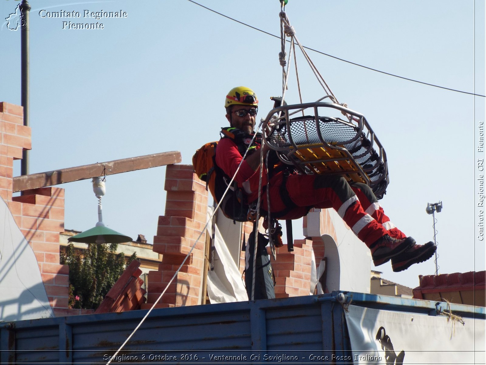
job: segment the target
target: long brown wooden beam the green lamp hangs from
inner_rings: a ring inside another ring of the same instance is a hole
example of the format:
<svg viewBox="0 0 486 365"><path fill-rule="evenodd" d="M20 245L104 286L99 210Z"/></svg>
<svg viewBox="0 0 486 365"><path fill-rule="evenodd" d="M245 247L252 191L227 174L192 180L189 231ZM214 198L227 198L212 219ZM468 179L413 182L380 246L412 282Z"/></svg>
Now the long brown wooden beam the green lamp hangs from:
<svg viewBox="0 0 486 365"><path fill-rule="evenodd" d="M177 164L182 161L179 151L161 152L153 155L131 157L127 159L101 162L60 170L40 172L38 174L16 176L13 179L13 192L39 187L70 183L104 175L141 170L144 168Z"/></svg>

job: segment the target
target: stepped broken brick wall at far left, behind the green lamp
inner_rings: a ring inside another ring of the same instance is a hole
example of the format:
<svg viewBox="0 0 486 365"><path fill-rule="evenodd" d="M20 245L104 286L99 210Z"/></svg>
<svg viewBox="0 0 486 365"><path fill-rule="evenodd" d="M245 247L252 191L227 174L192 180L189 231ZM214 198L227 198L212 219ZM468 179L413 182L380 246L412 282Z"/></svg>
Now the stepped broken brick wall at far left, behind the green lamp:
<svg viewBox="0 0 486 365"><path fill-rule="evenodd" d="M30 148L31 128L23 125L23 108L0 103L0 196L34 250L54 313L66 315L69 312L69 268L59 264L59 233L64 231L64 189L33 189L12 197L13 162L22 158L22 150Z"/></svg>

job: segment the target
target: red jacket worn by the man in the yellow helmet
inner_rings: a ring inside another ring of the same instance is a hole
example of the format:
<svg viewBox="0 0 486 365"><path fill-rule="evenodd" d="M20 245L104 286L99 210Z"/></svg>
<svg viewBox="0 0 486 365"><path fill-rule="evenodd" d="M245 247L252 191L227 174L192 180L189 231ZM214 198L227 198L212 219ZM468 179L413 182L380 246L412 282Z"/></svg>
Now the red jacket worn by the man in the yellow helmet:
<svg viewBox="0 0 486 365"><path fill-rule="evenodd" d="M260 146L254 153L260 153ZM242 159L243 157L238 150L238 146L236 146L231 138L221 138L219 140L218 147L216 148L216 164L221 167L226 175L230 178L233 177ZM258 199L260 168L257 171L253 171L248 163L243 161L243 164L238 170L238 174L235 176L235 181L238 183L238 186L243 188L249 203ZM266 184L267 174L266 168L264 168L261 181L262 188Z"/></svg>

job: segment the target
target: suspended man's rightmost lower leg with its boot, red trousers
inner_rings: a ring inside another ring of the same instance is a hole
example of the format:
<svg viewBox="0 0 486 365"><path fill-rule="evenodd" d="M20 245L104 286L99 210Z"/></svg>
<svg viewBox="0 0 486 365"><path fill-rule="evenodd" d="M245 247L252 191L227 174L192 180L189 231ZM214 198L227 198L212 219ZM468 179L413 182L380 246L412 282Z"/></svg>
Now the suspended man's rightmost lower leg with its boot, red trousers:
<svg viewBox="0 0 486 365"><path fill-rule="evenodd" d="M352 183L351 189L356 193L364 211L371 215L377 222L381 223L390 237L398 239L407 237L385 215L378 199L376 199L375 194L368 185L364 183ZM414 245L411 248L392 257L392 269L394 272L406 270L413 264L424 262L431 258L434 255L435 250L436 247L432 241L427 242L425 245L417 245L414 240Z"/></svg>

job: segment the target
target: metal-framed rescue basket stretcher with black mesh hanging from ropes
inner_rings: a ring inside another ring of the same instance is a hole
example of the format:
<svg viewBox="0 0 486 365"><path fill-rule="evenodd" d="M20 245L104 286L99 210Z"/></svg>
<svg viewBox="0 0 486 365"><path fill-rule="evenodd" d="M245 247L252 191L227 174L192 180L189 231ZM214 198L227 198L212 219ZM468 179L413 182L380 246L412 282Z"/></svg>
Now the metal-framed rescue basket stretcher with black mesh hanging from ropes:
<svg viewBox="0 0 486 365"><path fill-rule="evenodd" d="M320 116L331 112L338 116ZM265 142L284 164L366 183L382 199L389 183L386 153L361 113L334 103L293 104L270 110L264 123Z"/></svg>

